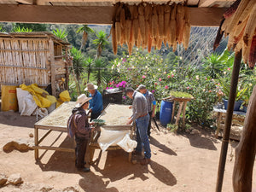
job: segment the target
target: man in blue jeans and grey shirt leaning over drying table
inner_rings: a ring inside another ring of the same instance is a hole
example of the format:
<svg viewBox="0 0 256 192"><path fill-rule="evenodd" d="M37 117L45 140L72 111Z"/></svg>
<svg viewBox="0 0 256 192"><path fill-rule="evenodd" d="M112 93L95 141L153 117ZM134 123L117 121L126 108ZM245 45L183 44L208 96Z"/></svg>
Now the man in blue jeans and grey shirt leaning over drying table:
<svg viewBox="0 0 256 192"><path fill-rule="evenodd" d="M142 165L147 165L150 163L151 149L148 141L148 107L147 100L143 94L137 90L133 90L131 87L125 89L126 96L133 99L132 102L132 115L127 122L130 125L132 121L136 121L137 125L137 148L135 154L142 154L144 148L144 159L141 161Z"/></svg>

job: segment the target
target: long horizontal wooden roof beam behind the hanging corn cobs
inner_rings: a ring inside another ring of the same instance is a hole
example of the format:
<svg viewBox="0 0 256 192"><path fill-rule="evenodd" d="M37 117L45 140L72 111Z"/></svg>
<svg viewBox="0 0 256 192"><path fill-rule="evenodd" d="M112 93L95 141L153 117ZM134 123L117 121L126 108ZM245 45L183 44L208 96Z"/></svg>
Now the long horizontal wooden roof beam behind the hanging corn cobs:
<svg viewBox="0 0 256 192"><path fill-rule="evenodd" d="M191 26L219 26L224 10L224 8L189 8ZM113 11L113 6L1 4L0 21L111 25Z"/></svg>

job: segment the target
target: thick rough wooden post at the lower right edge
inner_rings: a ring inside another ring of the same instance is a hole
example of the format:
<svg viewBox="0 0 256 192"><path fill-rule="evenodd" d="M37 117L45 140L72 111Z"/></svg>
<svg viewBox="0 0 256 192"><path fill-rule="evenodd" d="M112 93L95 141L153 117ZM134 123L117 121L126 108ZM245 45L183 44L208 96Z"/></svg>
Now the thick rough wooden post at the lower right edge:
<svg viewBox="0 0 256 192"><path fill-rule="evenodd" d="M256 85L250 97L240 143L235 150L234 192L252 191L253 164L256 154Z"/></svg>

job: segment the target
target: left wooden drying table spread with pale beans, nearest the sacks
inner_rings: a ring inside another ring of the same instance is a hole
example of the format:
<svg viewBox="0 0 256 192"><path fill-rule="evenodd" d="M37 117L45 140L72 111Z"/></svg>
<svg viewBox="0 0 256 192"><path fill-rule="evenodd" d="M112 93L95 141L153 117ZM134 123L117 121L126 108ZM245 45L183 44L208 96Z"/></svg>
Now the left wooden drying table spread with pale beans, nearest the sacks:
<svg viewBox="0 0 256 192"><path fill-rule="evenodd" d="M35 131L35 159L38 160L39 149L55 150L55 151L65 151L74 152L74 148L60 148L52 146L39 145L43 142L44 138L49 135L51 131L61 131L67 132L67 119L72 113L72 109L75 106L75 102L64 102L59 108L56 108L52 113L49 113L43 119L40 119L34 125ZM39 130L48 130L44 136L39 138Z"/></svg>

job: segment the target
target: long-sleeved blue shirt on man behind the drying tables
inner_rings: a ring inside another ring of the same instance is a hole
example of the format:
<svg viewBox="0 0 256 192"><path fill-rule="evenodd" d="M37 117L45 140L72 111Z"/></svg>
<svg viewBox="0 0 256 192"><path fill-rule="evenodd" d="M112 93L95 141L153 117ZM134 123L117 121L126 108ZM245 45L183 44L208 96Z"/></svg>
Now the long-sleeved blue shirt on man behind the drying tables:
<svg viewBox="0 0 256 192"><path fill-rule="evenodd" d="M91 113L101 113L103 109L102 94L96 90L93 96L91 96L91 94L89 96L92 97L89 101Z"/></svg>

